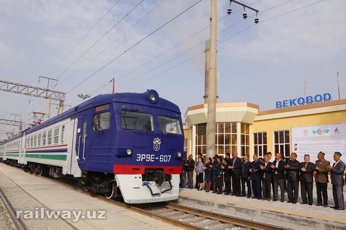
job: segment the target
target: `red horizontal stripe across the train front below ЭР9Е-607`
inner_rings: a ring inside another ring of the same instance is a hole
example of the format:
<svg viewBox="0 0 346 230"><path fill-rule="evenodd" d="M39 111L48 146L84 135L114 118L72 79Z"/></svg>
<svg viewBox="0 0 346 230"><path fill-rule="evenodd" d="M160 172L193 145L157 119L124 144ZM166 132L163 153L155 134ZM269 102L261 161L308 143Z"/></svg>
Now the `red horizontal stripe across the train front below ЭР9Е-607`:
<svg viewBox="0 0 346 230"><path fill-rule="evenodd" d="M113 165L114 174L144 174L145 169L163 169L169 174L181 174L182 166L135 166L135 165Z"/></svg>

